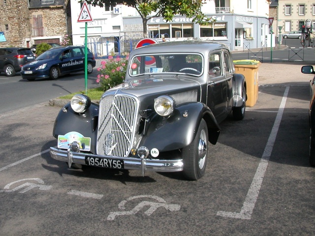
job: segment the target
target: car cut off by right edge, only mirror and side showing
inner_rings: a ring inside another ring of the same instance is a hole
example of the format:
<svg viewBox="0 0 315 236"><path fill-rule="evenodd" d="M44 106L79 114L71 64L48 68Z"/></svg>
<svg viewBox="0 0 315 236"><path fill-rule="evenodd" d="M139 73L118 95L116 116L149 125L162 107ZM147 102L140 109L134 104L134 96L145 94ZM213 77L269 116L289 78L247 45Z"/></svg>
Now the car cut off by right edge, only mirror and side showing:
<svg viewBox="0 0 315 236"><path fill-rule="evenodd" d="M315 74L312 65L302 66L301 72L304 74ZM315 77L310 81L311 99L309 108L310 122L310 165L315 167Z"/></svg>

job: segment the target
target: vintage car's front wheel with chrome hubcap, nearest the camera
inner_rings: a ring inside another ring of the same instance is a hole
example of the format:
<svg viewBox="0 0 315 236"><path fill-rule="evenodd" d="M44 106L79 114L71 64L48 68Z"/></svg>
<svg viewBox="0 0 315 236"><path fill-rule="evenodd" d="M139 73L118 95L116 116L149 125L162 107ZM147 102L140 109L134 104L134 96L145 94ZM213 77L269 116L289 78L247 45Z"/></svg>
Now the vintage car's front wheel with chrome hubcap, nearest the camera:
<svg viewBox="0 0 315 236"><path fill-rule="evenodd" d="M206 171L208 156L208 128L204 119L201 119L196 137L192 143L182 149L184 163L183 175L190 180L198 180Z"/></svg>

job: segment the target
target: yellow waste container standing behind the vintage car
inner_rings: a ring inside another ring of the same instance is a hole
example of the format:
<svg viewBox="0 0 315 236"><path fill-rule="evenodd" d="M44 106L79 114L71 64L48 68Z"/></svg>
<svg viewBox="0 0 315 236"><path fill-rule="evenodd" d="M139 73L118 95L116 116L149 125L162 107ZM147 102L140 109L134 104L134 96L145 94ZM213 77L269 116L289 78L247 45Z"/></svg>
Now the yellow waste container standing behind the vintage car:
<svg viewBox="0 0 315 236"><path fill-rule="evenodd" d="M252 107L258 100L258 67L261 62L257 60L233 60L235 72L243 74L247 85L246 106Z"/></svg>

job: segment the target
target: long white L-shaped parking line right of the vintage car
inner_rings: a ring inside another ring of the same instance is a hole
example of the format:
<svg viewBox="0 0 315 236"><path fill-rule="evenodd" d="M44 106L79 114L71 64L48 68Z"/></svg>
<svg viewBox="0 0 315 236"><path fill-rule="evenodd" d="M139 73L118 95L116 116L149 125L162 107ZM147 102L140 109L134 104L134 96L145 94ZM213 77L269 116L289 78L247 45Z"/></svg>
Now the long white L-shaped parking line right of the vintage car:
<svg viewBox="0 0 315 236"><path fill-rule="evenodd" d="M252 184L250 186L250 189L248 190L247 196L245 198L245 202L243 204L243 207L241 208L241 212L230 212L230 211L218 211L217 215L222 217L230 217L230 218L238 218L238 219L251 219L252 211L255 207L255 203L258 198L258 194L261 188L262 180L264 178L265 172L267 170L268 166L268 160L270 158L272 148L274 147L277 133L279 130L280 122L282 119L282 116L284 114L284 107L285 102L287 98L287 94L289 92L290 87L286 87L284 91L284 96L282 98L282 102L280 104L278 114L276 117L276 120L274 122L274 125L272 127L271 133L269 135L265 150L262 154L261 160L259 162L259 165L257 167L256 173L254 178L252 179Z"/></svg>

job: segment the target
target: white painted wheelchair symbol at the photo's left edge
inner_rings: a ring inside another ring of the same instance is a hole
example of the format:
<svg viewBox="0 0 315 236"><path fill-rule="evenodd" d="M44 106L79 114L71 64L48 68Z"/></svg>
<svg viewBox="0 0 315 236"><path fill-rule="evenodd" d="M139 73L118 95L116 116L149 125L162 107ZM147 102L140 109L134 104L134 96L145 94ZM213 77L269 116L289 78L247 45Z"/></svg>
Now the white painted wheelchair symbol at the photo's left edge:
<svg viewBox="0 0 315 236"><path fill-rule="evenodd" d="M18 183L18 182L26 181L26 180L35 180L38 183L26 182L20 186L17 186L13 189L10 189L11 185ZM24 179L20 179L20 180L8 183L7 185L4 186L4 190L0 190L0 193L10 193L10 192L20 190L21 188L24 188L24 187L26 187L26 188L23 189L22 191L20 191L19 193L25 193L25 192L33 189L33 188L36 188L36 187L38 187L39 190L48 190L48 189L51 189L52 185L44 185L44 181L40 178L24 178Z"/></svg>

